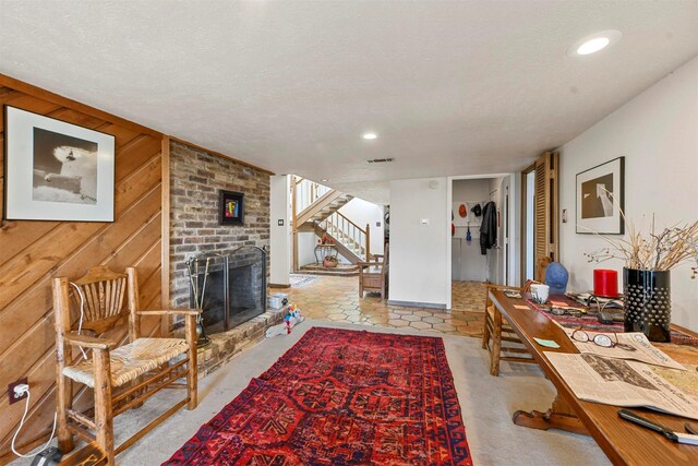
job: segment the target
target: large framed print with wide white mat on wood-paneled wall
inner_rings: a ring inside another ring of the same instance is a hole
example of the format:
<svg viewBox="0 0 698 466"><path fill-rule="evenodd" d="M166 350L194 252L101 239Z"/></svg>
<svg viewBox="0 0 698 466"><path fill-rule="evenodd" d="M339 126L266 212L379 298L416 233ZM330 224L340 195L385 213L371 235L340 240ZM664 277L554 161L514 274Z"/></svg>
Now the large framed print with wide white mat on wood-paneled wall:
<svg viewBox="0 0 698 466"><path fill-rule="evenodd" d="M11 220L113 222L115 136L4 106Z"/></svg>

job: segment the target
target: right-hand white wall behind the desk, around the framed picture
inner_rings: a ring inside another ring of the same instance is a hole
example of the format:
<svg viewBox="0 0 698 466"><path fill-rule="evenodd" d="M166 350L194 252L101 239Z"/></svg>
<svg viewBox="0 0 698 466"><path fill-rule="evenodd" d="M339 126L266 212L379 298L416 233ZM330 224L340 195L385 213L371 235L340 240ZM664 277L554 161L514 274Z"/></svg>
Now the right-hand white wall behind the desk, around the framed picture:
<svg viewBox="0 0 698 466"><path fill-rule="evenodd" d="M614 111L561 150L561 260L570 287L588 290L593 268L623 263L589 264L583 252L605 246L593 235L575 232L575 176L625 156L625 214L636 226L655 215L660 227L698 218L698 58ZM627 225L626 225L627 227ZM627 230L627 228L626 228ZM618 279L622 287L622 278ZM621 288L619 288L621 289ZM672 322L698 331L698 280L689 265L672 271Z"/></svg>

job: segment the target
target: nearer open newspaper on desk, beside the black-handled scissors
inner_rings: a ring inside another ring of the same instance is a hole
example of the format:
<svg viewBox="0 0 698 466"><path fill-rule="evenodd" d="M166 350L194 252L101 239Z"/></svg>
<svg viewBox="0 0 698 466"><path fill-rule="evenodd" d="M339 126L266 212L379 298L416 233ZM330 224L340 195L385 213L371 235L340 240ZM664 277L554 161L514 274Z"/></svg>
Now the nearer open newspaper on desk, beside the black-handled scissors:
<svg viewBox="0 0 698 466"><path fill-rule="evenodd" d="M698 394L688 394L661 375L661 371L671 369L592 354L544 354L580 399L616 406L645 406L698 419ZM671 371L698 379L698 374L688 371Z"/></svg>

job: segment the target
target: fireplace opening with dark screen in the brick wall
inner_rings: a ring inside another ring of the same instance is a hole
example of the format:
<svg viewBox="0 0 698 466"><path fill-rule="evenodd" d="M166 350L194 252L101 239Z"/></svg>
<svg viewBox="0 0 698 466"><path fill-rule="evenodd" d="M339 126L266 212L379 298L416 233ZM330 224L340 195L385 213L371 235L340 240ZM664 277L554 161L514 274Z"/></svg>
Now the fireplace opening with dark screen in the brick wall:
<svg viewBox="0 0 698 466"><path fill-rule="evenodd" d="M243 246L186 261L190 306L201 308L208 335L234 328L266 311L266 251Z"/></svg>

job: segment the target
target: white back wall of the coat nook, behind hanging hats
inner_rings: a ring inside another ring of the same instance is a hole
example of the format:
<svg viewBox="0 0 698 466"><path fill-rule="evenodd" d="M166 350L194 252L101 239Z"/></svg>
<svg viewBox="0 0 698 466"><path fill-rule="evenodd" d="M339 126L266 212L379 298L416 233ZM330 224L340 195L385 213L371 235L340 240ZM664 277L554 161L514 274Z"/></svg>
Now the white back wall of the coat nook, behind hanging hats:
<svg viewBox="0 0 698 466"><path fill-rule="evenodd" d="M484 206L490 200L489 179L454 180L453 183L453 204L482 202ZM468 212L467 215L473 214ZM480 252L480 227L470 227L471 241L466 241L467 231L467 227L456 227L452 240L452 279L484 282L488 278L488 256Z"/></svg>

